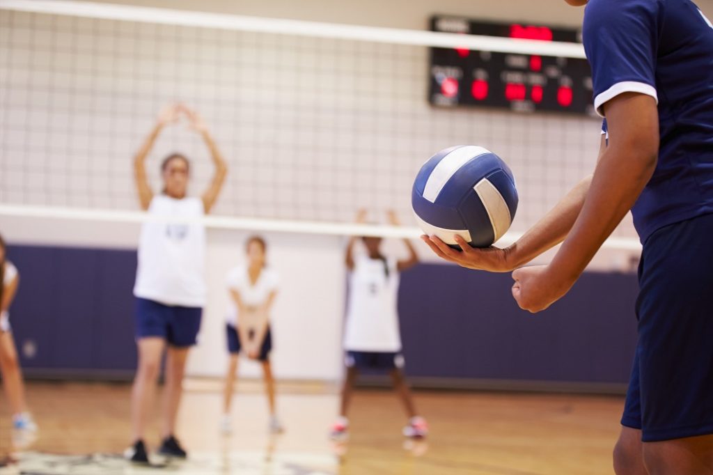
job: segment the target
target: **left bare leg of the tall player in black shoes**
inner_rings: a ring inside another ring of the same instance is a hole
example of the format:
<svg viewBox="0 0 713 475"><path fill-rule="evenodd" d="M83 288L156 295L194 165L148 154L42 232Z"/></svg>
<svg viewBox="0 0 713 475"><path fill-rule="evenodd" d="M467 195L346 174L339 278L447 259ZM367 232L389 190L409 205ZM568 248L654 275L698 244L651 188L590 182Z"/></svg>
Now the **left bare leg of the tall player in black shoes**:
<svg viewBox="0 0 713 475"><path fill-rule="evenodd" d="M156 392L156 379L164 347L163 338L148 337L138 340L138 368L131 391L131 430L134 441L143 439L146 419Z"/></svg>

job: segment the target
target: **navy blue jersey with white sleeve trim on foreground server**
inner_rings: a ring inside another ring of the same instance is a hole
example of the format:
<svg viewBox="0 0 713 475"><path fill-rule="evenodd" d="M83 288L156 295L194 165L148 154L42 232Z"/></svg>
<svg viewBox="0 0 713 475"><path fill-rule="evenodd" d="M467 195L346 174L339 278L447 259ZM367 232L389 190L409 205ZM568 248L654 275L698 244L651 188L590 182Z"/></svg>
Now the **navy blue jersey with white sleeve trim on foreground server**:
<svg viewBox="0 0 713 475"><path fill-rule="evenodd" d="M659 160L632 208L642 242L713 213L711 22L690 0L590 0L583 36L602 117L621 93L657 99Z"/></svg>

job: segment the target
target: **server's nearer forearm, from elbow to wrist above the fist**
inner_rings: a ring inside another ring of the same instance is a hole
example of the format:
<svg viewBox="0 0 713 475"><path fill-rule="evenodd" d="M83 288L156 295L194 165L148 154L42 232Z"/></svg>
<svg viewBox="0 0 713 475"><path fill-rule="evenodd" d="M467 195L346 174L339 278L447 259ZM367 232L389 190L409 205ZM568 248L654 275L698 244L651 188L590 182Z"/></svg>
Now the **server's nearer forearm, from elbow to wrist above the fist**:
<svg viewBox="0 0 713 475"><path fill-rule="evenodd" d="M597 165L582 212L550 264L574 282L629 212L656 168L654 151L610 146Z"/></svg>

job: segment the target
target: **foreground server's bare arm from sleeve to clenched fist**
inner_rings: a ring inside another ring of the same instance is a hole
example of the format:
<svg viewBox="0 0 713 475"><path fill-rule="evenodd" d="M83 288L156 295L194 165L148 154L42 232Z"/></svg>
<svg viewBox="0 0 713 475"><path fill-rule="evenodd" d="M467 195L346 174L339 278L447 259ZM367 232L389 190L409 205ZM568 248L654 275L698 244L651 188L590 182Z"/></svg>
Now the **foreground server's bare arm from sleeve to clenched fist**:
<svg viewBox="0 0 713 475"><path fill-rule="evenodd" d="M659 148L655 99L623 93L606 103L605 113L609 145L572 230L550 265L513 272L513 297L524 310L545 310L568 292L654 173Z"/></svg>

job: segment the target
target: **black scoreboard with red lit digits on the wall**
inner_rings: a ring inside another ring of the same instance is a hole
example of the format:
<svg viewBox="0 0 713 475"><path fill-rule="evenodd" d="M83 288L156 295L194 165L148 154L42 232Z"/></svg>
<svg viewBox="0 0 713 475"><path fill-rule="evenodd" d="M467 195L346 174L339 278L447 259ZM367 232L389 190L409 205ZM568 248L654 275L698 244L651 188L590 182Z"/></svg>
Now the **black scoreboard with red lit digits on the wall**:
<svg viewBox="0 0 713 475"><path fill-rule="evenodd" d="M434 16L432 31L581 44L576 29ZM562 111L593 116L592 73L586 59L431 48L429 101L511 111Z"/></svg>

